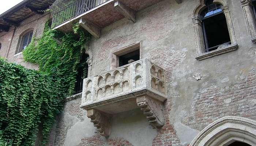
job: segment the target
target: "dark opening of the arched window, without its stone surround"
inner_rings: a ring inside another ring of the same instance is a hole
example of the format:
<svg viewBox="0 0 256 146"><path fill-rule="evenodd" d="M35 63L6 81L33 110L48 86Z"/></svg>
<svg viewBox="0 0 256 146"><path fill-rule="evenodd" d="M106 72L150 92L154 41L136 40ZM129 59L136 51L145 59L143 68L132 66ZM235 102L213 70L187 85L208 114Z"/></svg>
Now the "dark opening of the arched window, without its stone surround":
<svg viewBox="0 0 256 146"><path fill-rule="evenodd" d="M206 2L207 8L201 13L204 45L206 52L231 45L226 17L221 9L222 5Z"/></svg>

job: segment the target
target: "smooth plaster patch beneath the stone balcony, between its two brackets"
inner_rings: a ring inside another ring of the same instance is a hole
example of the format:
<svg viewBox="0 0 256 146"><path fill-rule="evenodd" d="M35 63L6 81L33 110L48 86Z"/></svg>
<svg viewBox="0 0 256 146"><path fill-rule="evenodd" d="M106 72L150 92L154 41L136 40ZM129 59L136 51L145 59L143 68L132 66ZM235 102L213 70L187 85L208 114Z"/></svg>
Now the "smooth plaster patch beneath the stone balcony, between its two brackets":
<svg viewBox="0 0 256 146"><path fill-rule="evenodd" d="M151 146L157 136L140 109L114 115L111 126L109 138L124 138L134 146Z"/></svg>

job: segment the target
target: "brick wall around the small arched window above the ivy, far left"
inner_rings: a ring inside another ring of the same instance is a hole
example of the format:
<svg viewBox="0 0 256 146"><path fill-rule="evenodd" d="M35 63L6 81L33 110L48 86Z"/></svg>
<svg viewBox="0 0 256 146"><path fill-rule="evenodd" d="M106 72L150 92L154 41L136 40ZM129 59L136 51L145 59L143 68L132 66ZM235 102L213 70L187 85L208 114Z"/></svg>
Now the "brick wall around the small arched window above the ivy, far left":
<svg viewBox="0 0 256 146"><path fill-rule="evenodd" d="M44 31L44 25L47 22L47 20L49 20L50 17L51 16L48 12L46 12L43 15L36 14L25 19L23 22L21 22L19 27L17 28L11 27L9 32L2 32L0 34L0 43L2 43L0 55L2 57L8 58L10 62L15 62L17 64L25 66L26 68L38 69L37 65L31 64L29 62L24 62L23 55L16 54L16 50L20 46L20 40L21 40L22 34L27 30L34 30L33 37L40 38ZM10 47L10 44L11 44L11 47ZM10 47L10 50L9 50L9 47Z"/></svg>

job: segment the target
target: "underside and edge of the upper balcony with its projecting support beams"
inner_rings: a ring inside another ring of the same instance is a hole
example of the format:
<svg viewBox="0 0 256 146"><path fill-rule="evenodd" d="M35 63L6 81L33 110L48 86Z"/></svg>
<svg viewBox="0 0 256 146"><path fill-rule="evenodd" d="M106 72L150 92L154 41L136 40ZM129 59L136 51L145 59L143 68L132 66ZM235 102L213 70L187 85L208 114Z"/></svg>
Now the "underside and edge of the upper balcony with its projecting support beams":
<svg viewBox="0 0 256 146"><path fill-rule="evenodd" d="M77 0L78 1L78 0ZM97 3L97 5L90 6L87 11L80 13L75 11L76 14L67 17L63 22L54 25L54 29L63 32L72 32L72 26L79 23L82 28L87 30L95 38L100 38L101 29L109 26L110 24L127 18L131 23L136 23L136 13L151 5L157 4L162 0L87 0ZM99 2L100 1L100 2ZM173 0L174 1L174 0ZM181 0L175 0L181 3ZM90 3L91 3L90 2ZM85 5L82 3L81 5ZM54 8L54 7L53 7ZM65 7L64 7L65 8ZM63 10L65 11L65 9ZM53 15L53 23L56 21L56 14ZM63 18L61 12L60 17Z"/></svg>

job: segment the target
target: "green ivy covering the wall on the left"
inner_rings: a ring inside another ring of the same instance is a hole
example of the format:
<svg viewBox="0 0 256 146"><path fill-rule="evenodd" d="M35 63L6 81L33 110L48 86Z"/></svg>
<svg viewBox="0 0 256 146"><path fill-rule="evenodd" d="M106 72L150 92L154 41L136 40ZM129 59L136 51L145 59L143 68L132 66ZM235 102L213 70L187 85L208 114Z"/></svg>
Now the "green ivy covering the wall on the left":
<svg viewBox="0 0 256 146"><path fill-rule="evenodd" d="M78 25L74 26L74 32L63 34L45 25L43 36L33 38L23 51L25 61L39 65L38 71L0 58L1 143L33 146L39 126L42 145L47 143L65 97L74 92L83 46L89 41Z"/></svg>

